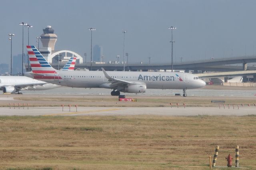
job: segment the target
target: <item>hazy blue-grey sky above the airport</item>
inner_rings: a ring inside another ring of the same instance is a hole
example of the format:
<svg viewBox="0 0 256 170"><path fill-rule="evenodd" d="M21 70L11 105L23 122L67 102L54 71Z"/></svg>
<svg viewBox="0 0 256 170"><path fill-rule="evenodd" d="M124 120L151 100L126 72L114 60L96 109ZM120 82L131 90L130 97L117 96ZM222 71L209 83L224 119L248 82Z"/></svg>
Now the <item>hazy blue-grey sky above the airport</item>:
<svg viewBox="0 0 256 170"><path fill-rule="evenodd" d="M55 49L90 56L92 44L102 45L104 61L123 57L123 30L129 62L170 62L170 30L174 62L256 55L255 0L4 0L0 1L0 63L10 63L9 33L15 34L12 54L22 53L22 26L30 28L36 45L46 26L58 40ZM28 29L24 28L24 51ZM122 60L122 59L120 59Z"/></svg>

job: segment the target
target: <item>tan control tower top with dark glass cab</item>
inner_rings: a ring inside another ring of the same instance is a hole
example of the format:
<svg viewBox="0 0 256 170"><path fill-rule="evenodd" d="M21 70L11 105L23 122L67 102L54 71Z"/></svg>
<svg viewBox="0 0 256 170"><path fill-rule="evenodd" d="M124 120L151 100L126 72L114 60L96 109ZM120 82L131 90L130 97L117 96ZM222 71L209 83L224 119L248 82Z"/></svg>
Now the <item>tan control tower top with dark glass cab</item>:
<svg viewBox="0 0 256 170"><path fill-rule="evenodd" d="M51 47L51 50L54 51L54 46L57 41L57 35L54 34L52 26L46 26L43 29L44 34L41 35L41 42L43 47Z"/></svg>

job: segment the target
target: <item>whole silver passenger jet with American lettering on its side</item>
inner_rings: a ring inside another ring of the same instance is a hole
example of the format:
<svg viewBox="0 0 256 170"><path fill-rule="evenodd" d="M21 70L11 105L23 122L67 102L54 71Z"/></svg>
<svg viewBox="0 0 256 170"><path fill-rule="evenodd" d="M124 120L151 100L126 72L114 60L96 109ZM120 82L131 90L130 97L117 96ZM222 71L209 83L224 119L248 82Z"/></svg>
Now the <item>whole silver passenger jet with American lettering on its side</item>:
<svg viewBox="0 0 256 170"><path fill-rule="evenodd" d="M204 87L206 83L190 73L140 71L62 71L52 68L34 45L27 45L32 72L25 75L37 80L80 88L113 89L111 95L145 93L146 89L187 89Z"/></svg>

